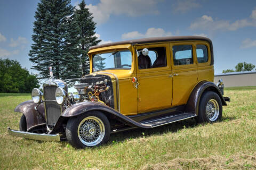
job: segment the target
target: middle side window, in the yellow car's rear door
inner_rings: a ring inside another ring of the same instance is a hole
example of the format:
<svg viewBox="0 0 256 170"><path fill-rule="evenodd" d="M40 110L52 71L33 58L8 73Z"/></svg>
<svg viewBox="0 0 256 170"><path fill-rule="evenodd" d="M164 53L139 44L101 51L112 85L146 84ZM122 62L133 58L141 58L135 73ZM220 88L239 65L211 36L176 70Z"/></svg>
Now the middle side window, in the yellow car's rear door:
<svg viewBox="0 0 256 170"><path fill-rule="evenodd" d="M172 46L174 65L193 64L192 45Z"/></svg>

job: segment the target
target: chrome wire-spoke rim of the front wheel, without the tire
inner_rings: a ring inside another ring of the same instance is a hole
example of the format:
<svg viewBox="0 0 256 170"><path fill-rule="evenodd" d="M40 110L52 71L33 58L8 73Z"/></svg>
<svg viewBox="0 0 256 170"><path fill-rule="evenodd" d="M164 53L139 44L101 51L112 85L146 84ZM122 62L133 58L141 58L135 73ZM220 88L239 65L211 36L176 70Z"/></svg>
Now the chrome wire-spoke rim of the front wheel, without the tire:
<svg viewBox="0 0 256 170"><path fill-rule="evenodd" d="M85 117L78 125L79 140L86 146L98 145L105 135L105 125L95 116Z"/></svg>

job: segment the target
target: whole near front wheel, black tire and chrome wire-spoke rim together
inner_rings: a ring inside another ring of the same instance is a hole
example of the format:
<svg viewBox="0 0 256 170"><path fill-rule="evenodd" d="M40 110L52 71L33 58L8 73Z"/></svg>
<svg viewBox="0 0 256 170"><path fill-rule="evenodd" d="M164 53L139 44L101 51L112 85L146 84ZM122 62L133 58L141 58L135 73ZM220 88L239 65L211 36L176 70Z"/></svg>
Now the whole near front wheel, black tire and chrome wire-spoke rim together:
<svg viewBox="0 0 256 170"><path fill-rule="evenodd" d="M66 135L75 148L99 146L109 140L110 124L101 112L85 113L68 120Z"/></svg>

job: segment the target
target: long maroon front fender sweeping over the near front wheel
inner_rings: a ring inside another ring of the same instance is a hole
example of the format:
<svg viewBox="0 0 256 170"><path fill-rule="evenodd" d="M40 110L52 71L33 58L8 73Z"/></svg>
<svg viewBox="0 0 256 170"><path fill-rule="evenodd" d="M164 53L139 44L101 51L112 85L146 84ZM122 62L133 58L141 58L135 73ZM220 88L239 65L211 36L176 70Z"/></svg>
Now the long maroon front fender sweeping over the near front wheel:
<svg viewBox="0 0 256 170"><path fill-rule="evenodd" d="M84 114L86 112L90 111L101 111L104 113L107 117L108 116L115 116L118 118L119 121L131 126L131 127L138 127L138 128L151 128L149 125L143 125L140 124L131 118L117 112L115 109L108 107L106 105L103 105L98 102L92 102L92 101L84 101L81 103L74 104L70 107L68 107L60 116L58 122L54 126L53 130L51 131L51 134L55 134L59 132L59 129L63 122L67 121L69 117L75 117L81 114Z"/></svg>

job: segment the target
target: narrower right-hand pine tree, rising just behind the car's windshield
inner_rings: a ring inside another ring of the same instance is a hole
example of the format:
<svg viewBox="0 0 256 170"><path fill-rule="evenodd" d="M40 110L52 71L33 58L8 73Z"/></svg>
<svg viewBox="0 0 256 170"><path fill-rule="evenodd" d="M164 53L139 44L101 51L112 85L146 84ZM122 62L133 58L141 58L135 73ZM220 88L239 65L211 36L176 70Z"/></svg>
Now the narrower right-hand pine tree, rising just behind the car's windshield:
<svg viewBox="0 0 256 170"><path fill-rule="evenodd" d="M79 9L75 10L74 21L79 27L79 54L83 62L83 73L89 74L90 64L89 57L87 53L89 52L89 47L98 45L101 40L97 39L95 36L95 25L93 22L92 13L86 8L84 0L78 5Z"/></svg>

